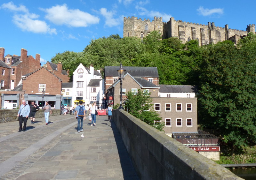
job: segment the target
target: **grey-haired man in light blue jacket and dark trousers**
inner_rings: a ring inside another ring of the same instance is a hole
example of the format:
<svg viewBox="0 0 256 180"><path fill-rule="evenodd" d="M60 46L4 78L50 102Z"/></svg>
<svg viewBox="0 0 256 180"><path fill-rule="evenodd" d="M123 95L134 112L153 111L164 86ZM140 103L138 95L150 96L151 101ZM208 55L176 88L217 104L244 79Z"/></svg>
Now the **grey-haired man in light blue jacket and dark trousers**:
<svg viewBox="0 0 256 180"><path fill-rule="evenodd" d="M27 121L28 121L28 115L30 113L30 107L28 106L28 104L26 104L25 100L21 101L22 104L20 105L20 109L18 111L18 117L19 117L19 123L20 123L20 131L26 131L26 127L27 127ZM23 125L23 129L22 129L22 123L24 123Z"/></svg>

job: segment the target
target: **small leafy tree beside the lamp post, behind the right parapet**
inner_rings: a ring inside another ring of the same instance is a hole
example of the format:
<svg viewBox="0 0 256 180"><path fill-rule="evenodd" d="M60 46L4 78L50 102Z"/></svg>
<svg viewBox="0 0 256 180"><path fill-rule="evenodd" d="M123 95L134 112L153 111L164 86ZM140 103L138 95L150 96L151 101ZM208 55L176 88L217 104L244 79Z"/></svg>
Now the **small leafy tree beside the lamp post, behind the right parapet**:
<svg viewBox="0 0 256 180"><path fill-rule="evenodd" d="M155 121L160 121L161 117L156 111L148 110L152 106L152 98L150 98L150 93L143 92L138 89L138 92L135 94L132 91L126 93L127 101L125 103L125 108L128 109L128 112L133 116L137 117L141 121L149 124L150 126L163 131L164 123L156 123Z"/></svg>

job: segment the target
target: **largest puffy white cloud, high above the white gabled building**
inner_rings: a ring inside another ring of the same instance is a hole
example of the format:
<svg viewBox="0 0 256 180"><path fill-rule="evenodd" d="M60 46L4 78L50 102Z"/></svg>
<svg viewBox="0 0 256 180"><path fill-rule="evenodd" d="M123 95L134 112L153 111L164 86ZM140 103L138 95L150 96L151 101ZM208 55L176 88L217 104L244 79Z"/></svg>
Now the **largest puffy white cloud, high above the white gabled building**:
<svg viewBox="0 0 256 180"><path fill-rule="evenodd" d="M66 4L52 6L48 9L41 9L47 14L45 18L57 25L72 27L87 27L90 24L98 24L100 19L79 9L68 9Z"/></svg>

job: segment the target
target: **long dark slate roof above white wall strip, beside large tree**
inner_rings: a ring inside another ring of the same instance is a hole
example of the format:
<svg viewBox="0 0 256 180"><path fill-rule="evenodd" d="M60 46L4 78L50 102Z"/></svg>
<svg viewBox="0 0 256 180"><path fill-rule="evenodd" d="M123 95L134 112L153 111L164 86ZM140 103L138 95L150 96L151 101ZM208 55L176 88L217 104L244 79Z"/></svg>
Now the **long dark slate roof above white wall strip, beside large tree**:
<svg viewBox="0 0 256 180"><path fill-rule="evenodd" d="M159 85L159 93L196 93L197 87L191 85Z"/></svg>

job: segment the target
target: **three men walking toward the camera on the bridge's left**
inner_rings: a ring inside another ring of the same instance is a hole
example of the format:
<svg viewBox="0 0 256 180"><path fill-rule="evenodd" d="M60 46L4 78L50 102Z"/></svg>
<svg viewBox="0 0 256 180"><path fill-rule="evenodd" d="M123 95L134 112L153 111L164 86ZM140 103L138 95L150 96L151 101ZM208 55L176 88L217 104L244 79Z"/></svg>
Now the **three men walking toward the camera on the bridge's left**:
<svg viewBox="0 0 256 180"><path fill-rule="evenodd" d="M27 121L28 117L31 119L31 124L35 123L35 116L36 116L36 111L39 110L39 106L35 104L35 101L31 101L31 104L28 105L25 100L21 101L20 109L18 111L18 119L19 119L19 132L21 131L26 131L27 127ZM52 107L50 104L48 104L48 101L45 102L45 105L43 107L44 110L44 117L45 117L45 124L48 124L49 120L49 114L52 114ZM23 128L22 128L23 124Z"/></svg>

